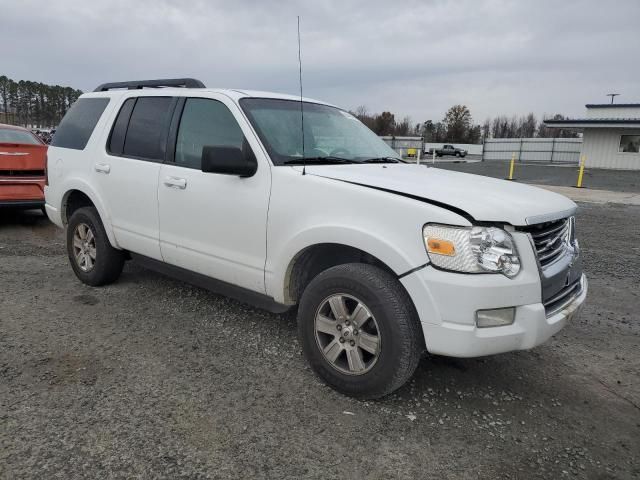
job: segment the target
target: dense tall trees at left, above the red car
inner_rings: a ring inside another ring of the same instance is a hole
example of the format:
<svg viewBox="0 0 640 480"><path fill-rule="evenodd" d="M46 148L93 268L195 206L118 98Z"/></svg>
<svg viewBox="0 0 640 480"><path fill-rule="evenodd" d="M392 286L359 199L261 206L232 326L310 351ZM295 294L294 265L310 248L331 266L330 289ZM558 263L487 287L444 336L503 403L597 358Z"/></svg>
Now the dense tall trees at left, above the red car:
<svg viewBox="0 0 640 480"><path fill-rule="evenodd" d="M58 125L81 90L0 75L0 123L31 128Z"/></svg>

